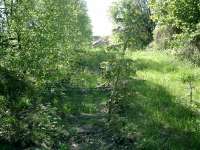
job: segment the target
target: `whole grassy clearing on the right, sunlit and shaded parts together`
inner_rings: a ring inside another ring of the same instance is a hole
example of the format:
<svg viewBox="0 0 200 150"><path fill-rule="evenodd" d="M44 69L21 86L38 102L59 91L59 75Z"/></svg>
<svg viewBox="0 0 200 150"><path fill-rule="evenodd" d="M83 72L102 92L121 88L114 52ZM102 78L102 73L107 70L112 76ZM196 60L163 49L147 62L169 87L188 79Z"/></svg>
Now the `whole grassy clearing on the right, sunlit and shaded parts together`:
<svg viewBox="0 0 200 150"><path fill-rule="evenodd" d="M187 85L181 77L187 73L198 75L200 69L164 52L129 52L127 57L134 60L137 69L136 77L129 83L134 94L129 99L127 116L141 135L138 148L199 149L200 116L189 103ZM198 89L200 82L194 85ZM199 101L199 96L196 90L194 99Z"/></svg>

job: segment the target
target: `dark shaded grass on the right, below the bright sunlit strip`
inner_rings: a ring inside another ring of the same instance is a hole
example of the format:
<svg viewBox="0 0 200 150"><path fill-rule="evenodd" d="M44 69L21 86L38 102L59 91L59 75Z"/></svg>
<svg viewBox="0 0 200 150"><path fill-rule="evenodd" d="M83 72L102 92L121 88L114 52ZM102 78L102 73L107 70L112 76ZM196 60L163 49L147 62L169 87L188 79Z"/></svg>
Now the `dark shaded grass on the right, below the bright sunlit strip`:
<svg viewBox="0 0 200 150"><path fill-rule="evenodd" d="M130 133L138 135L138 149L198 149L199 116L175 102L175 97L149 81L129 82L132 96L125 117ZM134 135L133 135L134 136ZM186 142L187 141L187 142Z"/></svg>

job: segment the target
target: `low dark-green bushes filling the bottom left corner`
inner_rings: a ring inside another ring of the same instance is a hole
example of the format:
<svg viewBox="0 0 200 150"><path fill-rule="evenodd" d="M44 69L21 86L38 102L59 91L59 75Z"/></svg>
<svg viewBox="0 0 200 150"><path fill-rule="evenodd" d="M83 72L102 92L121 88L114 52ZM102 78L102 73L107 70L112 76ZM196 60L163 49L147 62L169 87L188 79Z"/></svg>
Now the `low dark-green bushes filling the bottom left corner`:
<svg viewBox="0 0 200 150"><path fill-rule="evenodd" d="M14 116L6 108L5 99L0 102L0 139L23 148L53 149L68 137L57 109L50 104L39 104Z"/></svg>

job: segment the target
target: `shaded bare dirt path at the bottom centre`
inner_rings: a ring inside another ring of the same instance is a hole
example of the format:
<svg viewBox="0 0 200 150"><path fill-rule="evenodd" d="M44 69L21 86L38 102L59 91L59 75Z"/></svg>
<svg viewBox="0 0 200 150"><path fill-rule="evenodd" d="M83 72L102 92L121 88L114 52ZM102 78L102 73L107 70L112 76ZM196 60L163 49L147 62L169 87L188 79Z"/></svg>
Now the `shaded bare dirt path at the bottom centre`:
<svg viewBox="0 0 200 150"><path fill-rule="evenodd" d="M71 116L68 121L74 128L69 140L71 150L103 150L113 146L105 113L80 114Z"/></svg>

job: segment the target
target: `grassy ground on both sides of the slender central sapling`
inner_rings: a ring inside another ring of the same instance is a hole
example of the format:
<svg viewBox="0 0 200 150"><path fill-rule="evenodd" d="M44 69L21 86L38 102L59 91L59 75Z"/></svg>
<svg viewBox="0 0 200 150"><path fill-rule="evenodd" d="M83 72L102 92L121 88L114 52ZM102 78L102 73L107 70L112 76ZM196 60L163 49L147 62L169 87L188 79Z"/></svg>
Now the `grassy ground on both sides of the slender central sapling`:
<svg viewBox="0 0 200 150"><path fill-rule="evenodd" d="M114 55L98 49L88 51L86 56L82 59L85 69L81 74L87 91L72 94L75 97L67 103L69 108L74 108L70 111L74 115L67 121L70 139L73 139L70 142L83 149L199 148L199 106L190 103L188 85L181 79L186 74L198 76L200 68L165 52L127 52L126 58L134 61L136 75L133 73L128 79L126 108L116 118L113 130L106 123L105 104L109 93L92 91L92 88L104 83L99 65ZM200 102L200 81L194 86L194 100ZM117 133L117 126L122 137Z"/></svg>

